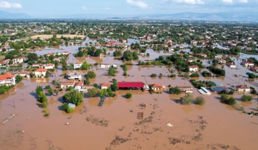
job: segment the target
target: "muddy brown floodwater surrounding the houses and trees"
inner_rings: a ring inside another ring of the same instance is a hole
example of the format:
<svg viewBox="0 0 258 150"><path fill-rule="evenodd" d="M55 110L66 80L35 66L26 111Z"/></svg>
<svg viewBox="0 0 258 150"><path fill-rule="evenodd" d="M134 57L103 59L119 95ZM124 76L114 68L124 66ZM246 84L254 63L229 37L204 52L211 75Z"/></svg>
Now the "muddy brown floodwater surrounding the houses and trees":
<svg viewBox="0 0 258 150"><path fill-rule="evenodd" d="M89 41L89 39L86 40L86 42ZM78 47L63 46L63 49L73 54L76 53ZM36 53L46 54L49 51L62 50L42 51L36 51ZM150 54L149 59L155 59L160 55L153 51ZM144 59L140 56L140 60ZM96 62L110 65L122 64L112 55L102 59L99 57L75 58L70 55L67 60L68 63L76 61L87 61L89 64ZM237 64L237 59L235 61ZM240 59L238 61L240 62ZM137 61L131 63L137 64ZM192 79L210 80L230 87L230 85L244 82L242 77L235 77L234 74L245 75L246 71L249 71L240 65L238 69L229 69L227 66L224 68L225 77L200 76ZM166 86L169 84L172 86L191 85L189 79L181 77L150 77L153 73L170 74L165 66L128 65L127 73L130 76L123 76L122 68L118 67L119 72L115 77L105 76L108 69L99 69L94 66L91 70L94 70L97 78L91 79L90 82L97 84L109 82L115 78L118 81L143 81L145 84L159 83ZM83 75L88 71L89 69L82 71ZM36 100L34 91L36 86L44 87L51 84L53 79L66 81L63 77L58 77L58 74L69 72L71 70L62 71L60 66L54 72L53 78L24 79L13 89L0 95L0 120L4 121L11 114L16 114L5 124L0 125L1 149L257 149L258 117L249 116L232 106L220 103L220 96L214 93L210 96L203 96L206 101L203 106L195 104L184 106L176 103L176 100L184 94L169 94L168 87L159 94L148 94L138 90L119 90L116 92L117 96L107 98L102 107L97 106L99 98L89 98L87 94L84 94L84 103L76 106L74 113L66 114L60 110L62 96L66 93L62 91L58 96L46 94L50 103L48 106L50 116L44 117L43 109ZM248 82L245 84L253 86ZM133 94L131 99L123 97L127 92ZM193 96L200 96L195 88L193 88ZM239 101L241 97L239 94L234 94L233 97L237 99L239 105L244 106L247 112L257 111L257 96L254 96L251 102ZM141 103L147 104L146 109L139 107ZM143 118L148 119L144 119L145 121L137 119L137 112L140 111L143 111ZM107 127L96 125L96 123L87 121L87 117L108 120L110 124ZM140 121L142 121L141 124L135 124ZM66 122L69 125L65 125ZM173 127L167 126L168 123L173 124Z"/></svg>

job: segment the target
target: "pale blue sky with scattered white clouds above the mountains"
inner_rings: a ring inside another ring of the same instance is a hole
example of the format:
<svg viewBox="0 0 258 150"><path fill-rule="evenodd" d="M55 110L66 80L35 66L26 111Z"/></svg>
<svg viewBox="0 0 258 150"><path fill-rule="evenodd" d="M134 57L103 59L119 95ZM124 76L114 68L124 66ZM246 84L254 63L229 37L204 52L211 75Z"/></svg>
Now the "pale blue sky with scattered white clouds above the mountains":
<svg viewBox="0 0 258 150"><path fill-rule="evenodd" d="M258 0L0 0L0 10L34 17L93 13L257 12Z"/></svg>

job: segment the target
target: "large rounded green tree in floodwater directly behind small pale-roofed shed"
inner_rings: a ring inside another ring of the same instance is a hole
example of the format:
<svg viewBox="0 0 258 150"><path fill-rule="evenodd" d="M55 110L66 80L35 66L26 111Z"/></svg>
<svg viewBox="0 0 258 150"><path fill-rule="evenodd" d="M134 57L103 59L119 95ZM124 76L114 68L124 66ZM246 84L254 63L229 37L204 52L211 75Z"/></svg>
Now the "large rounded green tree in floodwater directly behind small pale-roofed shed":
<svg viewBox="0 0 258 150"><path fill-rule="evenodd" d="M78 90L72 90L64 94L63 99L78 106L83 102L83 93L79 92Z"/></svg>

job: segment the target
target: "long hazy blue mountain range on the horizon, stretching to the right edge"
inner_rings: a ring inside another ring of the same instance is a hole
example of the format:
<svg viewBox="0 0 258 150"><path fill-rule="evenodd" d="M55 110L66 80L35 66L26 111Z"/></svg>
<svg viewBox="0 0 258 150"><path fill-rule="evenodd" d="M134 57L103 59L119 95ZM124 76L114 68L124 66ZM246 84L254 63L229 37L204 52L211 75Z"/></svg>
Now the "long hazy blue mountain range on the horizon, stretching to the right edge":
<svg viewBox="0 0 258 150"><path fill-rule="evenodd" d="M258 21L258 15L249 11L232 11L220 13L193 13L183 12L177 14L71 14L52 16L46 18L60 19L140 19L140 20L194 20L194 21Z"/></svg>

